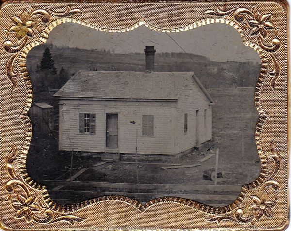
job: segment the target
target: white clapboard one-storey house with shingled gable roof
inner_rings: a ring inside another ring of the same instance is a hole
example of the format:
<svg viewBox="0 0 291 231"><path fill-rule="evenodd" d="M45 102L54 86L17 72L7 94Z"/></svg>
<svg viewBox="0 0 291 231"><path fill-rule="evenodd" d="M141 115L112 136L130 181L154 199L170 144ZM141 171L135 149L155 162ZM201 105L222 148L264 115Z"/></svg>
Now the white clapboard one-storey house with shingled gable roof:
<svg viewBox="0 0 291 231"><path fill-rule="evenodd" d="M59 97L59 149L173 155L211 139L213 100L193 72L79 71Z"/></svg>

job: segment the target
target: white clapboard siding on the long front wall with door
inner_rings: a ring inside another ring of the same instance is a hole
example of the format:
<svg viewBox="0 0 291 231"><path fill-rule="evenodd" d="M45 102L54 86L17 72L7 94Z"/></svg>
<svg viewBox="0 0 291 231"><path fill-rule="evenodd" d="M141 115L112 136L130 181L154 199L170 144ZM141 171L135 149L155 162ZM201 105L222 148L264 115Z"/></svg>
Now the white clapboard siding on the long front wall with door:
<svg viewBox="0 0 291 231"><path fill-rule="evenodd" d="M173 123L173 103L124 101L61 101L60 110L60 141L62 150L87 152L118 152L135 153L136 135L137 148L140 154L175 154L172 141L171 123ZM79 113L96 115L95 134L79 133ZM106 148L106 113L118 114L117 149ZM154 136L142 135L142 115L154 115ZM135 124L130 123L135 121ZM170 124L170 125L169 125ZM137 134L136 134L137 132Z"/></svg>

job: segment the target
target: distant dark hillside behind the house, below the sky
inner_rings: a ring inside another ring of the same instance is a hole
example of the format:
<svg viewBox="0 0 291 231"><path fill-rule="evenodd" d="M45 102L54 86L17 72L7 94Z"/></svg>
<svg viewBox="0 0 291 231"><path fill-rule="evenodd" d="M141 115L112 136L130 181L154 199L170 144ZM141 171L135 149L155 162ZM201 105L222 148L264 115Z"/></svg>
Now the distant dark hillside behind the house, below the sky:
<svg viewBox="0 0 291 231"><path fill-rule="evenodd" d="M49 46L58 71L64 68L71 76L79 70L144 71L145 55L113 54L99 50L41 45L28 54L30 76L35 77L44 49ZM233 84L254 87L260 65L252 62L213 62L204 56L186 53L157 53L155 71L193 71L206 88L229 88Z"/></svg>

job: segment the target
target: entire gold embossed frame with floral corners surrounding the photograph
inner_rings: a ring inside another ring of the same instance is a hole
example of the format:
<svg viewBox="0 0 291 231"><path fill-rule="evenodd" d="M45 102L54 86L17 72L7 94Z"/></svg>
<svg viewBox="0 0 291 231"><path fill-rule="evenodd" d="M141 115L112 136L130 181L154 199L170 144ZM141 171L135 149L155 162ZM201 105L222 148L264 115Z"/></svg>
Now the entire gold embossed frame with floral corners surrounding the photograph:
<svg viewBox="0 0 291 231"><path fill-rule="evenodd" d="M7 1L0 8L0 227L4 230L282 230L288 225L288 6L284 1ZM163 197L145 205L105 196L58 205L26 172L32 85L26 57L57 25L161 32L225 23L261 57L255 92L258 179L232 204L210 207Z"/></svg>

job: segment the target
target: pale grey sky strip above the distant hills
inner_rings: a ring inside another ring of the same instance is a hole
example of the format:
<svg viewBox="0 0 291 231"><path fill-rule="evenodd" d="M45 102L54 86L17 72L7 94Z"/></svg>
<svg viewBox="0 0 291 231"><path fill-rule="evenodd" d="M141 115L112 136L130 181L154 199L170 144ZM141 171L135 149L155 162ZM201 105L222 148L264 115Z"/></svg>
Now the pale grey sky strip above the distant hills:
<svg viewBox="0 0 291 231"><path fill-rule="evenodd" d="M260 62L258 53L242 44L240 34L233 27L222 23L178 33L158 32L145 25L129 32L110 33L65 23L51 31L47 42L56 46L105 49L121 54L142 53L145 46L155 46L157 53L193 53L219 62Z"/></svg>

